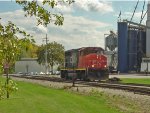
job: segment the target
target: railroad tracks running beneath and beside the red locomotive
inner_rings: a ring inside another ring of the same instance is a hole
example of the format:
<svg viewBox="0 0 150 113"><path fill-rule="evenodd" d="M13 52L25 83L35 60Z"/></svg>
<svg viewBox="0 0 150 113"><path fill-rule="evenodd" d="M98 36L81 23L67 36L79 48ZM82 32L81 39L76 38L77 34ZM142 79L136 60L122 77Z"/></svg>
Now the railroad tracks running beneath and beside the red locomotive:
<svg viewBox="0 0 150 113"><path fill-rule="evenodd" d="M46 80L53 82L66 82L73 83L72 80L65 80L57 77L48 77L48 76L16 76L11 75L13 77L26 78L26 79L35 79L35 80ZM148 95L150 96L150 85L145 84L127 84L127 83L104 83L104 82L87 82L87 81L75 81L75 84L82 84L92 87L103 87L103 88L111 88L111 89L119 89L126 90L130 92L134 92L135 94Z"/></svg>

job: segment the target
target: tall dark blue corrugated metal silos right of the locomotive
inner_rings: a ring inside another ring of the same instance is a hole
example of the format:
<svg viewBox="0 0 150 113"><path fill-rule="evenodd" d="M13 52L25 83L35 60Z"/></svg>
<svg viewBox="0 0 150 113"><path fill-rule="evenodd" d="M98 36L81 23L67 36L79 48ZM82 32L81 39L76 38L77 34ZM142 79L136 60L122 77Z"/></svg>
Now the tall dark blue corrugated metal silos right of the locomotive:
<svg viewBox="0 0 150 113"><path fill-rule="evenodd" d="M124 20L118 22L118 71L140 71L146 55L146 26Z"/></svg>

